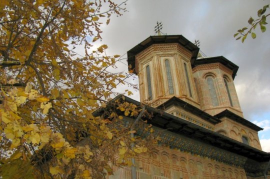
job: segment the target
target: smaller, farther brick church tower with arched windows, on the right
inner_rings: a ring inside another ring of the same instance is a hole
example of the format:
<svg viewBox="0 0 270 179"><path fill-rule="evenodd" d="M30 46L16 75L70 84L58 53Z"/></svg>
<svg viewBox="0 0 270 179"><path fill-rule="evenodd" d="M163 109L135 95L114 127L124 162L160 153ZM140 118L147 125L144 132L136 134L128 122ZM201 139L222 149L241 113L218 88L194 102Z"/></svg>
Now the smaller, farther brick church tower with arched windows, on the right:
<svg viewBox="0 0 270 179"><path fill-rule="evenodd" d="M223 56L198 58L193 77L201 110L215 115L225 109L243 117L233 79L238 66Z"/></svg>

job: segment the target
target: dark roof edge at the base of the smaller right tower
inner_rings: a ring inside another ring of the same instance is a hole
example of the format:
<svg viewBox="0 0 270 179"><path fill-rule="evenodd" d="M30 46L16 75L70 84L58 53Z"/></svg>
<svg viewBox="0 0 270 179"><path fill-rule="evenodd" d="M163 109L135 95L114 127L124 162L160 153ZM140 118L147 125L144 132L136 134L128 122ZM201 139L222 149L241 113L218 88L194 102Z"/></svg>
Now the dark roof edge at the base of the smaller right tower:
<svg viewBox="0 0 270 179"><path fill-rule="evenodd" d="M239 116L239 115L236 115L235 113L229 111L229 110L223 110L222 112L218 113L218 114L215 114L214 115L215 117L217 118L222 118L222 117L228 117L229 119L231 120L234 120L235 122L238 122L240 124L243 124L249 128L252 128L256 131L259 131L259 130L262 130L263 128L255 125L254 123L244 119L243 117Z"/></svg>

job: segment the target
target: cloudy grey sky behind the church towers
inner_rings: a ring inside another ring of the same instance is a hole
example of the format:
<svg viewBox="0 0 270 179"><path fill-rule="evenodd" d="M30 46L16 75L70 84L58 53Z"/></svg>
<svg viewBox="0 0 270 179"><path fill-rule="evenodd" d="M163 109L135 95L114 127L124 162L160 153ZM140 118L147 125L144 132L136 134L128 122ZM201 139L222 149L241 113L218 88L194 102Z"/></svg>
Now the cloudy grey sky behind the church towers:
<svg viewBox="0 0 270 179"><path fill-rule="evenodd" d="M244 43L233 34L250 16L256 18L259 8L270 0L128 0L122 16L112 16L102 25L102 41L108 54L126 57L126 51L154 34L156 21L163 23L161 32L182 34L189 41L200 40L200 50L208 57L224 56L239 66L234 78L244 118L264 128L258 132L264 151L270 152L270 25L256 38ZM270 9L267 10L270 12ZM268 19L270 23L270 20ZM96 44L98 45L98 44ZM126 58L118 70L127 71ZM138 83L137 78L130 79ZM131 96L138 100L138 91Z"/></svg>

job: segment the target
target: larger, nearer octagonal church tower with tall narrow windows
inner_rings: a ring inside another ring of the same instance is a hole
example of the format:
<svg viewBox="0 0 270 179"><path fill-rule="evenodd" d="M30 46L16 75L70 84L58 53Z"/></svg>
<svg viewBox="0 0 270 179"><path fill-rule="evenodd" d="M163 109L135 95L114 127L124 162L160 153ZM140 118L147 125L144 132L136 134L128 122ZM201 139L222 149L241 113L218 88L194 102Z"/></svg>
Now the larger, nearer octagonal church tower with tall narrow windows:
<svg viewBox="0 0 270 179"><path fill-rule="evenodd" d="M139 78L140 101L156 106L176 96L200 108L191 68L198 50L182 35L158 35L127 51Z"/></svg>

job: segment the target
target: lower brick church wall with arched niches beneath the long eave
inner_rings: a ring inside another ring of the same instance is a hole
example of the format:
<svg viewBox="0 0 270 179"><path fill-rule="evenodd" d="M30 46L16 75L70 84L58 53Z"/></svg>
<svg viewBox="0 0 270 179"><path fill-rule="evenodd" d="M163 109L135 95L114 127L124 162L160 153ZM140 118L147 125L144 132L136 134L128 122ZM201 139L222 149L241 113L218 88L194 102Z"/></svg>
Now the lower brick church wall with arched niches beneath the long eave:
<svg viewBox="0 0 270 179"><path fill-rule="evenodd" d="M167 147L158 147L149 154L140 154L135 158L135 166L136 178L143 179L247 178L243 168ZM114 173L107 178L131 178L130 167L114 168Z"/></svg>

